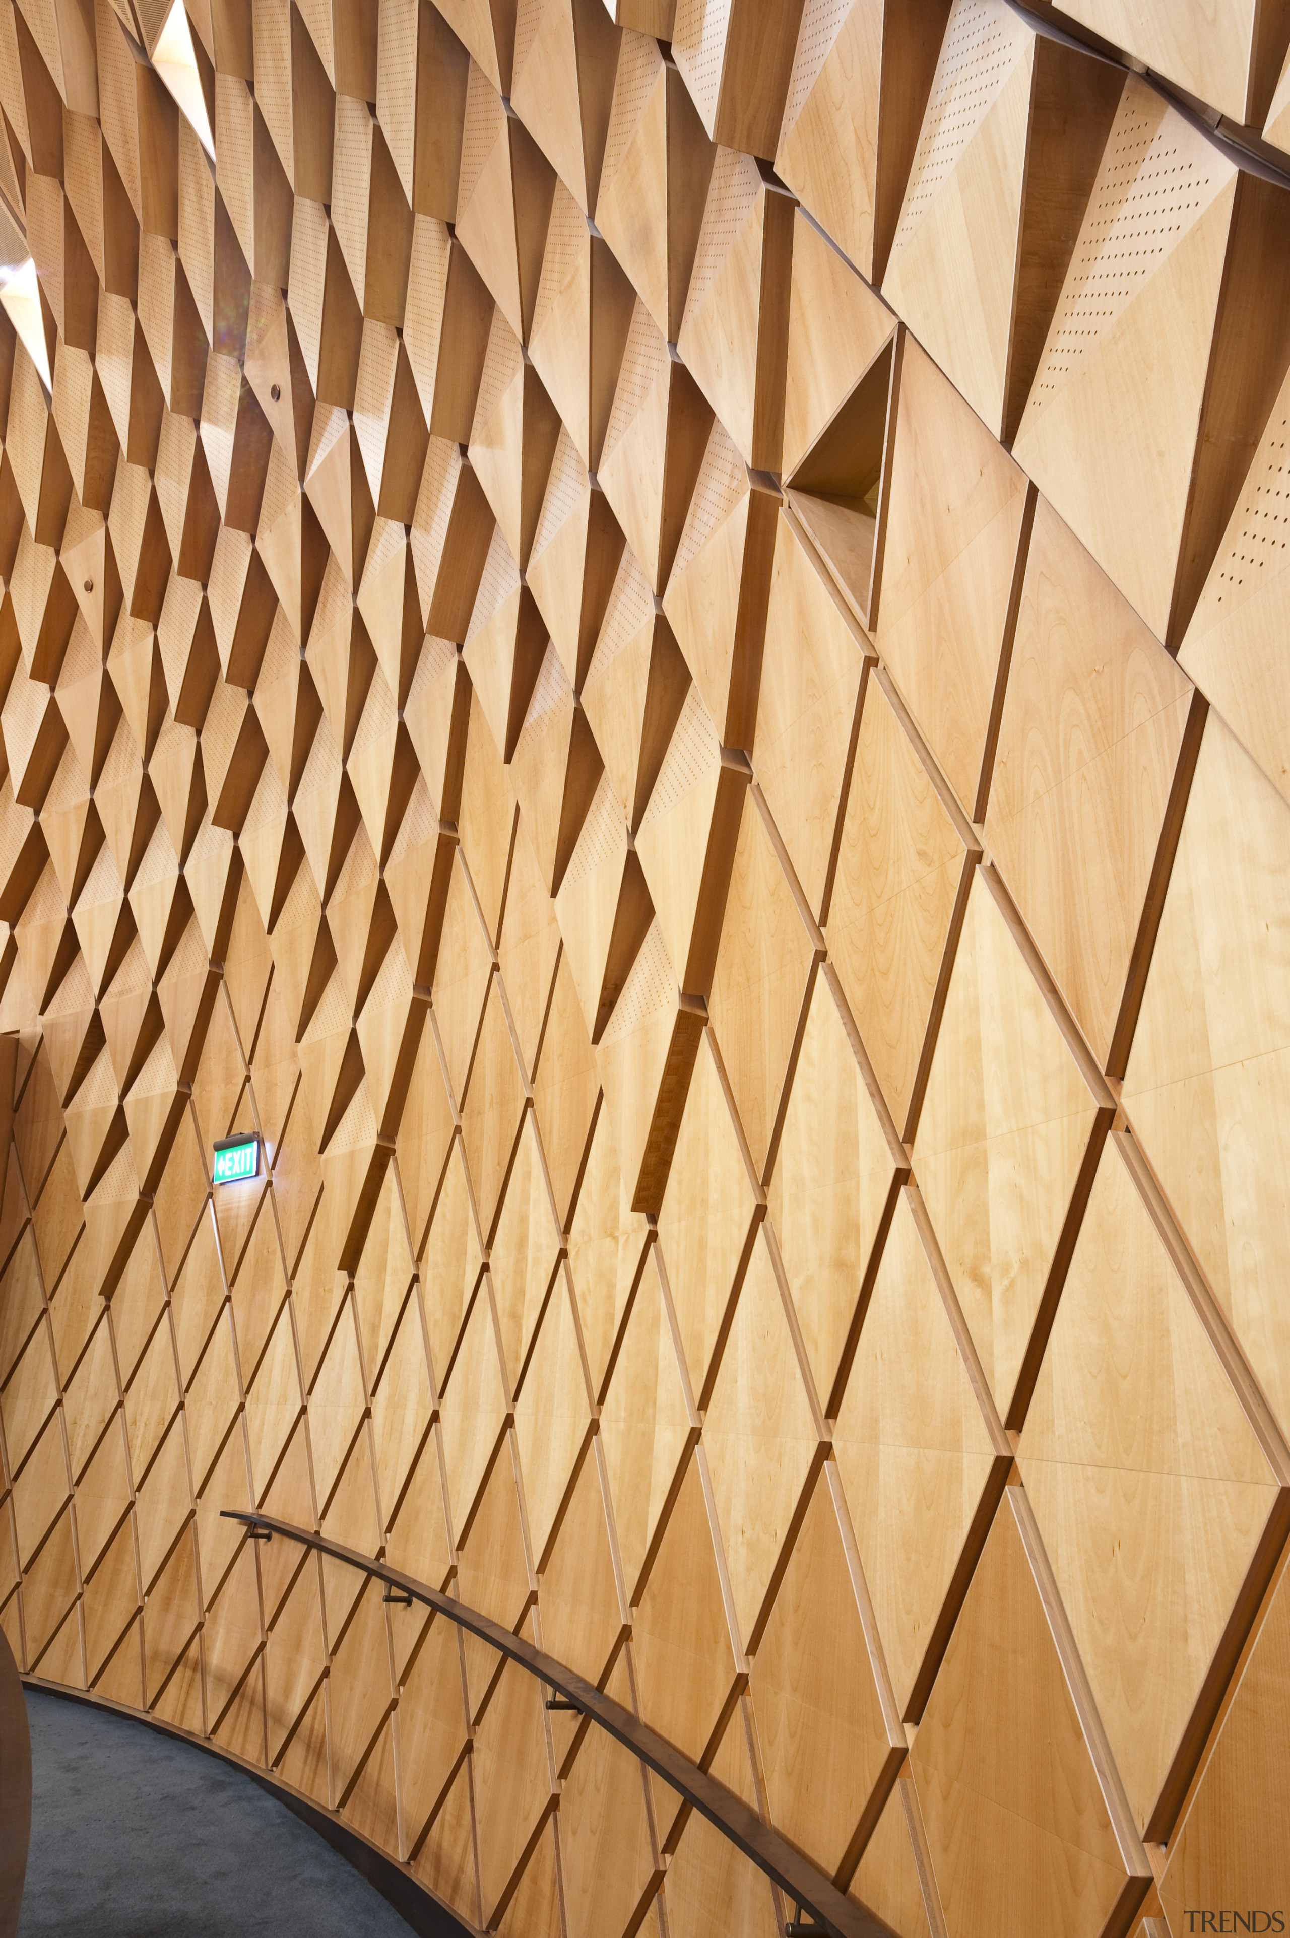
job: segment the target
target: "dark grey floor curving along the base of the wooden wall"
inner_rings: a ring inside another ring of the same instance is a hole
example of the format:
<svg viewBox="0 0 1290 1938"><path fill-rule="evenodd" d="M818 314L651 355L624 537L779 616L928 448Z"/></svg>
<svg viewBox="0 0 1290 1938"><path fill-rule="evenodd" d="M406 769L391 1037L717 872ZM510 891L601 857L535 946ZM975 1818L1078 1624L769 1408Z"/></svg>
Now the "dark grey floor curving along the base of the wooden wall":
<svg viewBox="0 0 1290 1938"><path fill-rule="evenodd" d="M27 1690L31 1853L17 1938L409 1938L380 1893L242 1771Z"/></svg>

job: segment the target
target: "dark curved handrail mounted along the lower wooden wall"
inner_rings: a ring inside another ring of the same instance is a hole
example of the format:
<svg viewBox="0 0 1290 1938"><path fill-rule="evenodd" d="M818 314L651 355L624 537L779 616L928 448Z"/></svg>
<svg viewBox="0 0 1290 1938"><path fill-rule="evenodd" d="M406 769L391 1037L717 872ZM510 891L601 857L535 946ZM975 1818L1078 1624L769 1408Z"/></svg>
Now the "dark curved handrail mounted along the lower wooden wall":
<svg viewBox="0 0 1290 1938"><path fill-rule="evenodd" d="M345 1562L349 1568L359 1568L363 1574L372 1576L376 1581L384 1581L388 1587L400 1589L403 1595L411 1595L413 1601L425 1603L427 1609L435 1609L436 1614L448 1616L458 1628L468 1630L489 1647L497 1649L499 1655L506 1655L512 1663L528 1669L530 1674L537 1676L539 1682L549 1684L566 1702L576 1704L576 1707L588 1715L594 1723L621 1742L625 1750L640 1758L642 1764L663 1779L669 1789L677 1791L689 1804L694 1806L735 1849L743 1851L751 1864L757 1864L774 1884L780 1886L788 1897L793 1899L803 1911L809 1911L821 1932L828 1932L830 1938L892 1938L890 1926L885 1924L873 1911L865 1905L855 1903L846 1897L836 1884L832 1884L822 1870L803 1857L780 1831L764 1824L755 1810L751 1810L743 1797L735 1791L726 1789L716 1777L693 1764L689 1756L677 1750L675 1744L660 1736L656 1729L648 1723L640 1723L630 1709L617 1704L611 1696L605 1696L592 1682L586 1682L576 1671L559 1663L553 1655L543 1649L535 1649L532 1641L524 1641L522 1636L514 1636L500 1622L493 1622L487 1614L477 1609L466 1607L462 1601L454 1601L450 1595L442 1595L438 1589L431 1587L427 1581L415 1581L411 1576L402 1574L398 1568L388 1568L384 1562L372 1560L371 1554L359 1554L355 1548L343 1548L338 1541L328 1541L326 1535L310 1533L306 1527L293 1527L291 1521L275 1521L268 1514L244 1514L235 1508L225 1508L223 1517L227 1521L241 1521L244 1527L260 1527L270 1535L283 1535L287 1541L299 1541L301 1547L316 1548L320 1554L328 1554L336 1562ZM801 1926L803 1930L807 1926Z"/></svg>

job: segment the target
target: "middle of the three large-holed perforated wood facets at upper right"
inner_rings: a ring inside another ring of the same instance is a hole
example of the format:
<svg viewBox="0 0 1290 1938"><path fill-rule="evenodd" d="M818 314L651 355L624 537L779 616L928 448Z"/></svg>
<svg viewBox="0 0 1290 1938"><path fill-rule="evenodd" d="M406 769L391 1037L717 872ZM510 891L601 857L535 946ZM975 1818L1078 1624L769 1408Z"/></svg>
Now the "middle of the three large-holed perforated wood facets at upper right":
<svg viewBox="0 0 1290 1938"><path fill-rule="evenodd" d="M1226 178L1216 163L1158 95L1125 87L1030 409L1044 409L1201 219Z"/></svg>

